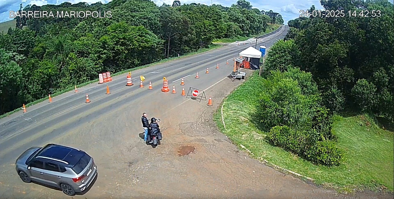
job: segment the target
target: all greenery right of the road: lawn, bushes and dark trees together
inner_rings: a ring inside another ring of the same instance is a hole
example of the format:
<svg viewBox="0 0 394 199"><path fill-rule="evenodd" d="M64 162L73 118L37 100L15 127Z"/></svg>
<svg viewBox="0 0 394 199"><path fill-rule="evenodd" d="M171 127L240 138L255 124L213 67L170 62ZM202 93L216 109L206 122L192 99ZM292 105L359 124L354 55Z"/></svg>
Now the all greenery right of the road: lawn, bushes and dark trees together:
<svg viewBox="0 0 394 199"><path fill-rule="evenodd" d="M249 77L214 119L252 157L317 184L392 192L393 5L353 3L322 6L380 10L381 16L290 20L285 39L268 51L263 76Z"/></svg>

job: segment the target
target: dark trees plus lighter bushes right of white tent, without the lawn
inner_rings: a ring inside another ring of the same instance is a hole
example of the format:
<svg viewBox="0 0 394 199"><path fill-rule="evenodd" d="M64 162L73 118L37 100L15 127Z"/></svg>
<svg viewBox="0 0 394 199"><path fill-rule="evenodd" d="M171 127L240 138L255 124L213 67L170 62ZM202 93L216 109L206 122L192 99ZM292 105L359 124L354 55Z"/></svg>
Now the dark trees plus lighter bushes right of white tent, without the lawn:
<svg viewBox="0 0 394 199"><path fill-rule="evenodd" d="M351 111L393 121L394 13L387 0L321 4L381 15L290 20L286 41L275 43L266 58L256 116L274 145L334 166L345 155L332 130L334 114Z"/></svg>

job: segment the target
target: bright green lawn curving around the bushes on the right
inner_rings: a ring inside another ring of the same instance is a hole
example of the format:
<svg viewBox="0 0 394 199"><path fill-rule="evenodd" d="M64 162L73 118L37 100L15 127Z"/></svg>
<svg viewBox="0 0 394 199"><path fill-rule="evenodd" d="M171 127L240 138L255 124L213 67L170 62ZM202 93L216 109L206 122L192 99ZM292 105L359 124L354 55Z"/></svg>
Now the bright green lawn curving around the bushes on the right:
<svg viewBox="0 0 394 199"><path fill-rule="evenodd" d="M256 73L231 93L221 109L214 114L219 129L230 140L241 144L258 160L267 160L284 169L314 179L316 184L350 193L379 188L393 191L394 158L393 132L379 128L364 115L353 117L336 116L333 130L338 136L339 146L346 150L346 160L338 167L316 166L298 156L273 147L266 142L265 132L251 122L258 95L261 77Z"/></svg>

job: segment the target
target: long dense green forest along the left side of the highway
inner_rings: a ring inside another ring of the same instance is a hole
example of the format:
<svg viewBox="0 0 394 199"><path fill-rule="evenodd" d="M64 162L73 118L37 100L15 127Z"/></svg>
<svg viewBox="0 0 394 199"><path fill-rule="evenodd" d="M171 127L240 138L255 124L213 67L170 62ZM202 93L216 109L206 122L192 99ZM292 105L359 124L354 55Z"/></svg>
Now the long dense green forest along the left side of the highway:
<svg viewBox="0 0 394 199"><path fill-rule="evenodd" d="M231 7L184 4L156 6L149 0L108 4L26 6L20 11L106 11L111 18L20 18L0 34L0 115L96 79L205 48L213 39L257 35L279 13L252 9L238 0ZM55 14L56 15L56 14Z"/></svg>

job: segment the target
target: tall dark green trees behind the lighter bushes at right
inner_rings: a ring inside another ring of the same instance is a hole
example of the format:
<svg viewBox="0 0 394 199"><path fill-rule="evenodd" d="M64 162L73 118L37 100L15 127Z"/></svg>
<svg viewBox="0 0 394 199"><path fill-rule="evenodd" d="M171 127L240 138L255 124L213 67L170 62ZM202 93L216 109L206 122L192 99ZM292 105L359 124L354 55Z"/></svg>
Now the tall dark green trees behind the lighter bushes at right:
<svg viewBox="0 0 394 199"><path fill-rule="evenodd" d="M286 39L296 45L287 66L312 73L322 103L330 110L350 109L393 120L393 4L387 0L321 0L321 4L327 10L356 11L358 16L290 20ZM366 12L361 16L362 10L368 10L369 17ZM379 11L379 17L371 17L372 11Z"/></svg>

